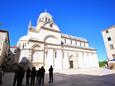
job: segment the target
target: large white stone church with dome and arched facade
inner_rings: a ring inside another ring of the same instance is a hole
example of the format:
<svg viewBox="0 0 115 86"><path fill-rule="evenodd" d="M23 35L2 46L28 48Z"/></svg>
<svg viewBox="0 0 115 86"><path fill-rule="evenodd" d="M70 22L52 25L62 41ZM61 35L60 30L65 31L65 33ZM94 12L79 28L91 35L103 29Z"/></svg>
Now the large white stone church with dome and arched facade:
<svg viewBox="0 0 115 86"><path fill-rule="evenodd" d="M29 61L36 68L99 68L96 49L84 38L62 33L47 12L40 14L36 26L29 22L27 35L19 39L17 47L19 62Z"/></svg>

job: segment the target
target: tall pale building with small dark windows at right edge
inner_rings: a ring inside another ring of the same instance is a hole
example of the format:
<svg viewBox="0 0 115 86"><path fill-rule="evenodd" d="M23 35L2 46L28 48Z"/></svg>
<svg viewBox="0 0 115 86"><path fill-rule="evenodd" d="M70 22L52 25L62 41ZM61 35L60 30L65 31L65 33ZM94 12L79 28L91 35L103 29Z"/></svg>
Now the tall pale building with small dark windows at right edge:
<svg viewBox="0 0 115 86"><path fill-rule="evenodd" d="M102 31L109 64L115 63L115 26Z"/></svg>

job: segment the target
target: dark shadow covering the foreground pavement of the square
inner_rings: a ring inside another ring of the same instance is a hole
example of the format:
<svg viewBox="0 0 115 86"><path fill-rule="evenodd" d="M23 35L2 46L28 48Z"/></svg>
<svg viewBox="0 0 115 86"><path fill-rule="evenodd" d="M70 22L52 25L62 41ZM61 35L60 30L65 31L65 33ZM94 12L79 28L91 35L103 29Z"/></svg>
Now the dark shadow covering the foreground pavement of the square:
<svg viewBox="0 0 115 86"><path fill-rule="evenodd" d="M1 86L12 86L14 73L5 73L3 76L3 84ZM103 76L85 75L85 74L62 74L54 73L54 82L48 83L48 74L45 74L44 86L115 86L115 74ZM24 78L23 85L26 86ZM38 86L36 83L35 86Z"/></svg>

